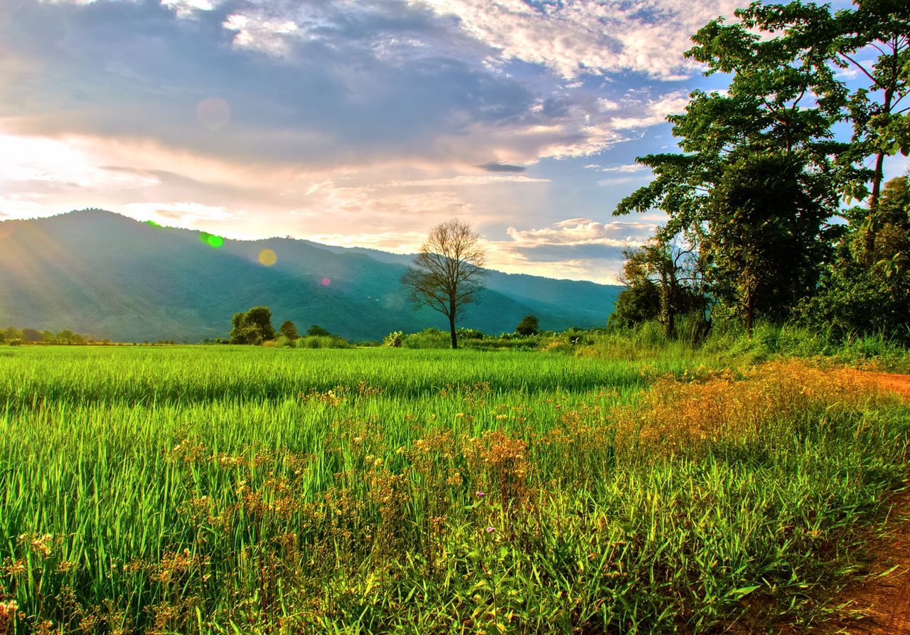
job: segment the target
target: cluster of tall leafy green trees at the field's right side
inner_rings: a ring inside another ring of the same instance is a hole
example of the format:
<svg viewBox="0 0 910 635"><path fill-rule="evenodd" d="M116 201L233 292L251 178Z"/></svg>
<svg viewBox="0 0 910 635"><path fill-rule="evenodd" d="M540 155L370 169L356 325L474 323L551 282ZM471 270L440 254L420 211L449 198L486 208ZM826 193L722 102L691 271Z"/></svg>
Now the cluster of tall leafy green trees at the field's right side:
<svg viewBox="0 0 910 635"><path fill-rule="evenodd" d="M910 187L884 183L910 150L910 3L756 2L693 42L686 56L730 85L669 117L681 153L637 159L654 179L613 214L668 219L626 252L612 324L659 319L672 336L687 315L706 334L725 315L750 334L795 319L910 341Z"/></svg>

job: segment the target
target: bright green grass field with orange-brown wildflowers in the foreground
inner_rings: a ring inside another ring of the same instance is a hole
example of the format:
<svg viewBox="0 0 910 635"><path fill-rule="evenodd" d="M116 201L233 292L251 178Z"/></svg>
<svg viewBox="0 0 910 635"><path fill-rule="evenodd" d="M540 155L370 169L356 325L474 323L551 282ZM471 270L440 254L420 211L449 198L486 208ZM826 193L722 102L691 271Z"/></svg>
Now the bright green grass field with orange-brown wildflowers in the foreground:
<svg viewBox="0 0 910 635"><path fill-rule="evenodd" d="M0 633L824 619L910 413L800 362L0 352Z"/></svg>

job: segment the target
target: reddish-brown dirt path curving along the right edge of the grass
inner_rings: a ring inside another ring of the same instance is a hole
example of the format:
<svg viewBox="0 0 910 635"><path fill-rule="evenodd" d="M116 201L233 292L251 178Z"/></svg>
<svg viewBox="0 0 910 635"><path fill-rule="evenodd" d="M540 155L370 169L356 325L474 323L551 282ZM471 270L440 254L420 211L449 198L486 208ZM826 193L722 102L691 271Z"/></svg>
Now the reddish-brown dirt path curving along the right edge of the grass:
<svg viewBox="0 0 910 635"><path fill-rule="evenodd" d="M910 375L863 375L910 400ZM844 590L843 617L822 632L910 635L910 491L892 500L885 533L870 541L869 553L872 575Z"/></svg>

